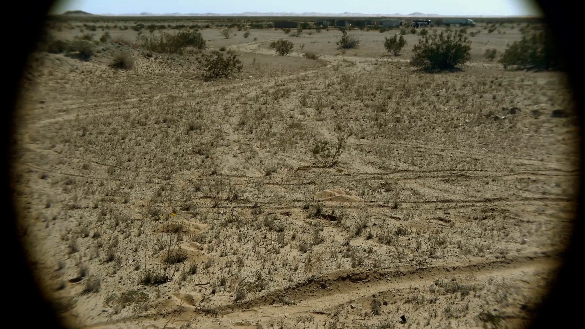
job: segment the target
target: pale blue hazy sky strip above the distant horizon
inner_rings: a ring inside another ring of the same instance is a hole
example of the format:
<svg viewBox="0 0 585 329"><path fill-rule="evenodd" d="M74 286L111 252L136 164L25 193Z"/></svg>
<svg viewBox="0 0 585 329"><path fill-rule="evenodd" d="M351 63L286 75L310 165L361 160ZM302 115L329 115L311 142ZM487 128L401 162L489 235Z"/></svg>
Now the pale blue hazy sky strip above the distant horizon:
<svg viewBox="0 0 585 329"><path fill-rule="evenodd" d="M531 0L68 0L54 12L82 10L94 14L124 13L436 13L438 15L535 15Z"/></svg>

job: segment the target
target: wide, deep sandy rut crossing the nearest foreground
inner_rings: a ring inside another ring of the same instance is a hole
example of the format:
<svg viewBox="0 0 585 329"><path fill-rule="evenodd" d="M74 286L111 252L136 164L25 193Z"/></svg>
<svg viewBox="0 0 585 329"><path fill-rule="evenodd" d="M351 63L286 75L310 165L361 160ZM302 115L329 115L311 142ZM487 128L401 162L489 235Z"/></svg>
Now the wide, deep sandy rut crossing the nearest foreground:
<svg viewBox="0 0 585 329"><path fill-rule="evenodd" d="M535 271L549 270L558 266L553 256L518 257L503 261L470 263L466 265L436 266L425 269L364 270L348 269L310 277L304 282L283 290L271 291L263 296L242 303L226 304L214 310L184 307L177 313L168 309L159 314L143 314L119 320L87 325L84 328L138 328L144 320L154 325L164 325L172 315L171 325L181 325L195 320L198 325L212 325L216 318L205 314L219 314L222 323L235 323L242 318L257 321L276 318L278 314L331 314L332 309L359 303L360 299L389 290L405 290L412 286L424 287L438 279L465 279L469 276L485 280L490 276L513 277ZM180 300L176 300L177 304ZM178 305L177 305L178 306ZM173 315L174 314L174 315Z"/></svg>

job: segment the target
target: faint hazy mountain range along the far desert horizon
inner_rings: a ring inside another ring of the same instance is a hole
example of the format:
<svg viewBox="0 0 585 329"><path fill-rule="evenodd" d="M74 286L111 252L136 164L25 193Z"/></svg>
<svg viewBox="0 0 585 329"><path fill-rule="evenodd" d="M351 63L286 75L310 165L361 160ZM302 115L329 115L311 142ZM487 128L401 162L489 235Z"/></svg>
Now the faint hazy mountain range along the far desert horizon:
<svg viewBox="0 0 585 329"><path fill-rule="evenodd" d="M84 11L68 11L63 15L94 15ZM436 13L413 12L408 15L401 13L359 13L359 12L342 12L342 13L321 13L321 12L243 12L243 13L124 13L124 14L97 14L99 16L271 16L271 17L509 17L506 15L438 15Z"/></svg>

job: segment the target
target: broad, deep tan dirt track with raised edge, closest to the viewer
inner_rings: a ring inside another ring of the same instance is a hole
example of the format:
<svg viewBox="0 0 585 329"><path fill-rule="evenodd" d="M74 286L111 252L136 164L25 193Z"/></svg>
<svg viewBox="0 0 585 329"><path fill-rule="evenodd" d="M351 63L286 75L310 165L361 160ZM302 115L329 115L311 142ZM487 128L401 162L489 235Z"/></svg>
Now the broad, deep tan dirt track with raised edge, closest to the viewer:
<svg viewBox="0 0 585 329"><path fill-rule="evenodd" d="M559 253L549 251L538 256L518 256L490 262L466 263L454 265L431 266L428 268L394 269L342 269L323 275L311 276L308 279L285 287L271 290L253 299L229 303L223 306L206 308L201 306L185 307L183 311L175 313L176 317L201 317L228 314L229 317L241 317L240 312L253 311L257 313L277 312L274 309L286 307L288 313L315 313L347 303L350 294L367 296L385 292L396 287L407 287L415 283L431 283L438 277L454 277L473 275L474 277L508 274L512 272L529 271L537 267L555 268L559 265L556 256ZM335 302L332 302L335 300ZM339 303L342 300L342 303ZM287 305L287 306L284 306ZM157 314L143 314L119 318L117 320L102 321L86 325L83 328L100 328L107 325L130 324L136 320L154 320L161 316L170 315L171 310Z"/></svg>

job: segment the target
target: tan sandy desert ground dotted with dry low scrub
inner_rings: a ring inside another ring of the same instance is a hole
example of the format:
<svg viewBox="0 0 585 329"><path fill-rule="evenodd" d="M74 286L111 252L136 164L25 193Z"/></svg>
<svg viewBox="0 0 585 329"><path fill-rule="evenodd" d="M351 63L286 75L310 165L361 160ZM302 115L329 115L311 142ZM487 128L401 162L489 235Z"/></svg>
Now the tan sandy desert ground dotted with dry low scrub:
<svg viewBox="0 0 585 329"><path fill-rule="evenodd" d="M202 29L243 63L215 81L132 29L93 32L112 40L88 61L36 53L14 179L39 284L72 328L524 327L569 237L577 121L562 74L484 58L518 24L474 30L435 74L418 35L384 50L396 29L346 52L335 29Z"/></svg>

